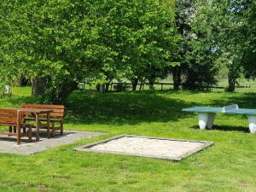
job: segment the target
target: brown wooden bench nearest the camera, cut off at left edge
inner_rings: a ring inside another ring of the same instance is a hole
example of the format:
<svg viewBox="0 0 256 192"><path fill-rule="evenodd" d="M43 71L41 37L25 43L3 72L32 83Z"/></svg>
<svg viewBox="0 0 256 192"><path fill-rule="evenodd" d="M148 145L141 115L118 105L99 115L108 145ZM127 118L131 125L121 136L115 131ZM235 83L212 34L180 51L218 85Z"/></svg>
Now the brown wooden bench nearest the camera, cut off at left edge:
<svg viewBox="0 0 256 192"><path fill-rule="evenodd" d="M0 109L0 126L9 127L9 131L0 131L0 135L17 137L17 145L20 145L21 137L28 137L29 142L32 142L32 125L21 123L21 113L19 110ZM21 128L23 132L20 131Z"/></svg>

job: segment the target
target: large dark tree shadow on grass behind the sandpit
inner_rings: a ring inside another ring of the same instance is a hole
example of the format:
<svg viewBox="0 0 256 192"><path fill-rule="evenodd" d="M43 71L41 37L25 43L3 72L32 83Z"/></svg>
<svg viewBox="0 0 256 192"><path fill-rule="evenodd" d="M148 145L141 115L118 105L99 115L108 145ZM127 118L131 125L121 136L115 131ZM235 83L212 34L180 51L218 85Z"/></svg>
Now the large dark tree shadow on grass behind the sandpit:
<svg viewBox="0 0 256 192"><path fill-rule="evenodd" d="M183 118L182 108L195 105L156 93L141 91L89 95L75 92L68 99L66 122L136 125L143 122L176 121Z"/></svg>

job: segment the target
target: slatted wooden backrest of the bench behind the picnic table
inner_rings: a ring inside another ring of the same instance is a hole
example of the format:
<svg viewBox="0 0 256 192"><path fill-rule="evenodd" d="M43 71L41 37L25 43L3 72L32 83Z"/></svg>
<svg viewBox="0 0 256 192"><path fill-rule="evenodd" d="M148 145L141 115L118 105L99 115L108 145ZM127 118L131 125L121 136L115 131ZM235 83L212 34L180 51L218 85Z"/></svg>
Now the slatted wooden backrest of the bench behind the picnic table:
<svg viewBox="0 0 256 192"><path fill-rule="evenodd" d="M49 116L62 119L65 107L64 105L21 104L21 108L49 108L54 110L54 112L49 113Z"/></svg>

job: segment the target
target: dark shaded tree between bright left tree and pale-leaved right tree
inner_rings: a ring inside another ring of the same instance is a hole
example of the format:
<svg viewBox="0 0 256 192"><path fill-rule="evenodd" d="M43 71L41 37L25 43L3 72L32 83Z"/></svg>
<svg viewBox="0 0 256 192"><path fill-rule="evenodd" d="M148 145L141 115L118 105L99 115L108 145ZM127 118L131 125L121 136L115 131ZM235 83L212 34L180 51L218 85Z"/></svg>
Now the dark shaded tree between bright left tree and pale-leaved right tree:
<svg viewBox="0 0 256 192"><path fill-rule="evenodd" d="M182 39L176 55L180 65L170 68L174 89L182 83L182 75L184 89L205 89L217 83L218 67L214 63L211 47L206 46L207 34L194 29L195 9L194 0L176 3L176 25Z"/></svg>

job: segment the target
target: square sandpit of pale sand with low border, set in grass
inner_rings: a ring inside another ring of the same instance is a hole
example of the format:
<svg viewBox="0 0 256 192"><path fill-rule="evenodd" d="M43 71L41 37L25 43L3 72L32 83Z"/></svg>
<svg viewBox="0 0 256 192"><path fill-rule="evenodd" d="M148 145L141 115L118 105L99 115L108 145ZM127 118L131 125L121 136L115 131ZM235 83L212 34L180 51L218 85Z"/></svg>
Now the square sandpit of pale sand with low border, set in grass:
<svg viewBox="0 0 256 192"><path fill-rule="evenodd" d="M212 144L212 142L183 139L119 136L75 149L110 154L131 154L166 160L182 160Z"/></svg>

